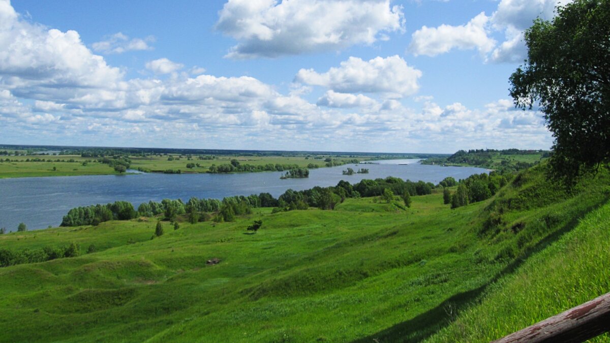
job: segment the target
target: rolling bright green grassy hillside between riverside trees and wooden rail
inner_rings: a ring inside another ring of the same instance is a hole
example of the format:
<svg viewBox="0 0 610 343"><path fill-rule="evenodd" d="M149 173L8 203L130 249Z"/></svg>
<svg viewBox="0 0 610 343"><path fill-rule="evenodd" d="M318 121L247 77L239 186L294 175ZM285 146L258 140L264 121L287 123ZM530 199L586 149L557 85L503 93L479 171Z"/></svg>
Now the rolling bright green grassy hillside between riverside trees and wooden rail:
<svg viewBox="0 0 610 343"><path fill-rule="evenodd" d="M1 235L0 248L76 242L83 255L0 268L0 341L499 338L610 291L608 180L566 193L536 167L453 210L435 193L409 209L360 198L335 211L166 222L154 239L154 218ZM251 234L254 220L263 225Z"/></svg>

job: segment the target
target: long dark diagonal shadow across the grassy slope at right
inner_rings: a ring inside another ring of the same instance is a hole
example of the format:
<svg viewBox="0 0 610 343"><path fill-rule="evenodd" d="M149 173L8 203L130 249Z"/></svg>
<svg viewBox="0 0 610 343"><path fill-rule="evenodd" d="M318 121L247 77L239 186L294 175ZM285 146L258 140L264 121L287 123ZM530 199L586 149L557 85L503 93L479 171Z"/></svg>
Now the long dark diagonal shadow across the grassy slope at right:
<svg viewBox="0 0 610 343"><path fill-rule="evenodd" d="M553 244L553 242L559 240L561 236L572 231L572 229L578 225L578 222L584 217L584 215L600 208L606 203L608 203L608 197L600 201L598 204L578 211L570 222L566 223L564 226L554 231L554 233L549 234L547 237L540 240L540 242L538 242L536 245L529 248L527 251L525 251L522 257L512 261L510 264L504 267L503 270L498 272L497 275L493 276L493 278L491 278L486 284L483 284L483 286L453 295L453 297L443 301L440 303L440 305L414 317L413 319L398 323L387 328L386 330L371 334L365 338L357 339L354 342L420 342L426 338L429 338L432 336L432 334L444 327L447 327L450 323L456 320L458 317L458 312L464 311L472 306L476 300L479 300L490 284L500 280L503 278L503 276L515 272L515 270L517 270L520 265L522 265L523 262L525 262L530 256L544 250L549 245Z"/></svg>

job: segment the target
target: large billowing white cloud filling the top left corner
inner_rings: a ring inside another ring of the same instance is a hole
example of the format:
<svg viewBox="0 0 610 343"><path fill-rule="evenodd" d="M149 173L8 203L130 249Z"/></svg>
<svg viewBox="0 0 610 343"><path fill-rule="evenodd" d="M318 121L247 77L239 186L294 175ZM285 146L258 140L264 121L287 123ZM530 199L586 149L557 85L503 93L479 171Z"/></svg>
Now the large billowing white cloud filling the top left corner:
<svg viewBox="0 0 610 343"><path fill-rule="evenodd" d="M20 20L8 1L0 1L0 73L10 88L38 85L48 91L60 86L108 87L123 76L119 68L92 54L76 31Z"/></svg>

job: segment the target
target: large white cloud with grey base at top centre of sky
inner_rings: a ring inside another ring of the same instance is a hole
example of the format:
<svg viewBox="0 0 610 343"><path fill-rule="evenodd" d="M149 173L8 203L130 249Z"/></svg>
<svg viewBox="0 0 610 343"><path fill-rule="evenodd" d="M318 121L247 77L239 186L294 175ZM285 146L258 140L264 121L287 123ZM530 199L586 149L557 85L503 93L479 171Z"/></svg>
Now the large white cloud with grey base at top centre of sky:
<svg viewBox="0 0 610 343"><path fill-rule="evenodd" d="M390 0L229 0L216 28L239 43L227 57L278 57L337 51L403 31Z"/></svg>

